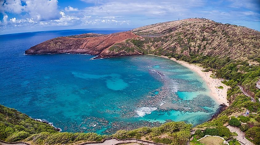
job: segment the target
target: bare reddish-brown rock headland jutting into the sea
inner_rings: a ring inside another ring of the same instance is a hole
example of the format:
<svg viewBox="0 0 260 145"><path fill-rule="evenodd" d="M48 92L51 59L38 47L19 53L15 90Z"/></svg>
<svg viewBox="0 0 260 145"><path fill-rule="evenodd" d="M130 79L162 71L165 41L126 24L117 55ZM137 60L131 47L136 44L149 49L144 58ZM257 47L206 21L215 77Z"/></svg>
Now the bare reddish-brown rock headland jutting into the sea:
<svg viewBox="0 0 260 145"><path fill-rule="evenodd" d="M134 39L140 36L132 32L120 32L108 35L81 34L68 37L58 37L47 40L25 51L25 54L91 54L102 57L137 55L139 52L125 53L124 51L108 52L107 50L116 43L126 39Z"/></svg>

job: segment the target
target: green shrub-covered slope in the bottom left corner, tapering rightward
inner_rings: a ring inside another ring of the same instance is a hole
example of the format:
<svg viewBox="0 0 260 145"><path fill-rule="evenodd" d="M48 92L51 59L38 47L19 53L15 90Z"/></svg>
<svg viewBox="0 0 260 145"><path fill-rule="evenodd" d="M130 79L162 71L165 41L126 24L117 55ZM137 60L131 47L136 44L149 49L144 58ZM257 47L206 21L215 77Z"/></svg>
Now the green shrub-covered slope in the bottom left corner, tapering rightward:
<svg viewBox="0 0 260 145"><path fill-rule="evenodd" d="M8 142L25 140L32 144L101 141L106 136L96 133L58 132L49 124L35 121L26 114L0 105L0 139Z"/></svg>

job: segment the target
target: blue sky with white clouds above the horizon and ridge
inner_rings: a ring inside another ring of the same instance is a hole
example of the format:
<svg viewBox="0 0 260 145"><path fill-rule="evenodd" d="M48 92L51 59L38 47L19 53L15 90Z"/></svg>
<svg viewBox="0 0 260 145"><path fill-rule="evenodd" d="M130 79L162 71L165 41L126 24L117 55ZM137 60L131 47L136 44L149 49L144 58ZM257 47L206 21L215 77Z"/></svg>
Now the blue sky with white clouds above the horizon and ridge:
<svg viewBox="0 0 260 145"><path fill-rule="evenodd" d="M203 17L260 31L260 0L0 0L0 34L136 28Z"/></svg>

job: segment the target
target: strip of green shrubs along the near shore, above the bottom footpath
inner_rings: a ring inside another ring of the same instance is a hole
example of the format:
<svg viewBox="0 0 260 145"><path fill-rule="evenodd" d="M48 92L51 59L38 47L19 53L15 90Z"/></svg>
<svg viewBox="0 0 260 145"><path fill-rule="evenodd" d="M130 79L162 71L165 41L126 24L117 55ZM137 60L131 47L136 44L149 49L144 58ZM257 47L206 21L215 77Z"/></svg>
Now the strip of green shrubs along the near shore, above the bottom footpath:
<svg viewBox="0 0 260 145"><path fill-rule="evenodd" d="M168 122L154 128L119 130L112 136L121 139L145 137L156 143L182 145L190 139L191 126L185 122ZM109 136L101 136L93 132L58 132L49 124L35 121L26 114L0 105L0 137L1 140L8 142L22 140L37 145L54 145L101 141Z"/></svg>

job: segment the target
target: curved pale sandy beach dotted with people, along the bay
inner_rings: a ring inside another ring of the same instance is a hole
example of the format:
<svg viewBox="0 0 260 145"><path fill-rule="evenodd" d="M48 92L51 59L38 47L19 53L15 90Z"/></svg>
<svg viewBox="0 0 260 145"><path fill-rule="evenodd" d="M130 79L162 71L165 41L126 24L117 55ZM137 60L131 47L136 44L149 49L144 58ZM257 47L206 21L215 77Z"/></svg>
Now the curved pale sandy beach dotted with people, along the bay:
<svg viewBox="0 0 260 145"><path fill-rule="evenodd" d="M152 55L152 54L148 54L148 55ZM154 55L157 56L157 55ZM179 64L191 69L192 71L196 72L199 76L202 77L202 79L206 82L207 86L210 88L210 97L214 100L216 100L216 102L218 104L225 104L226 106L229 106L228 100L226 99L226 92L227 89L230 88L229 86L226 86L225 84L221 83L220 79L213 79L210 77L210 75L212 74L212 72L202 72L203 68L199 67L197 65L194 64L189 64L185 61L178 61L175 58L168 58L167 56L158 56L158 57L162 57L162 58L167 58L170 60L173 60L175 62L178 62ZM224 89L218 89L218 86L223 86Z"/></svg>

